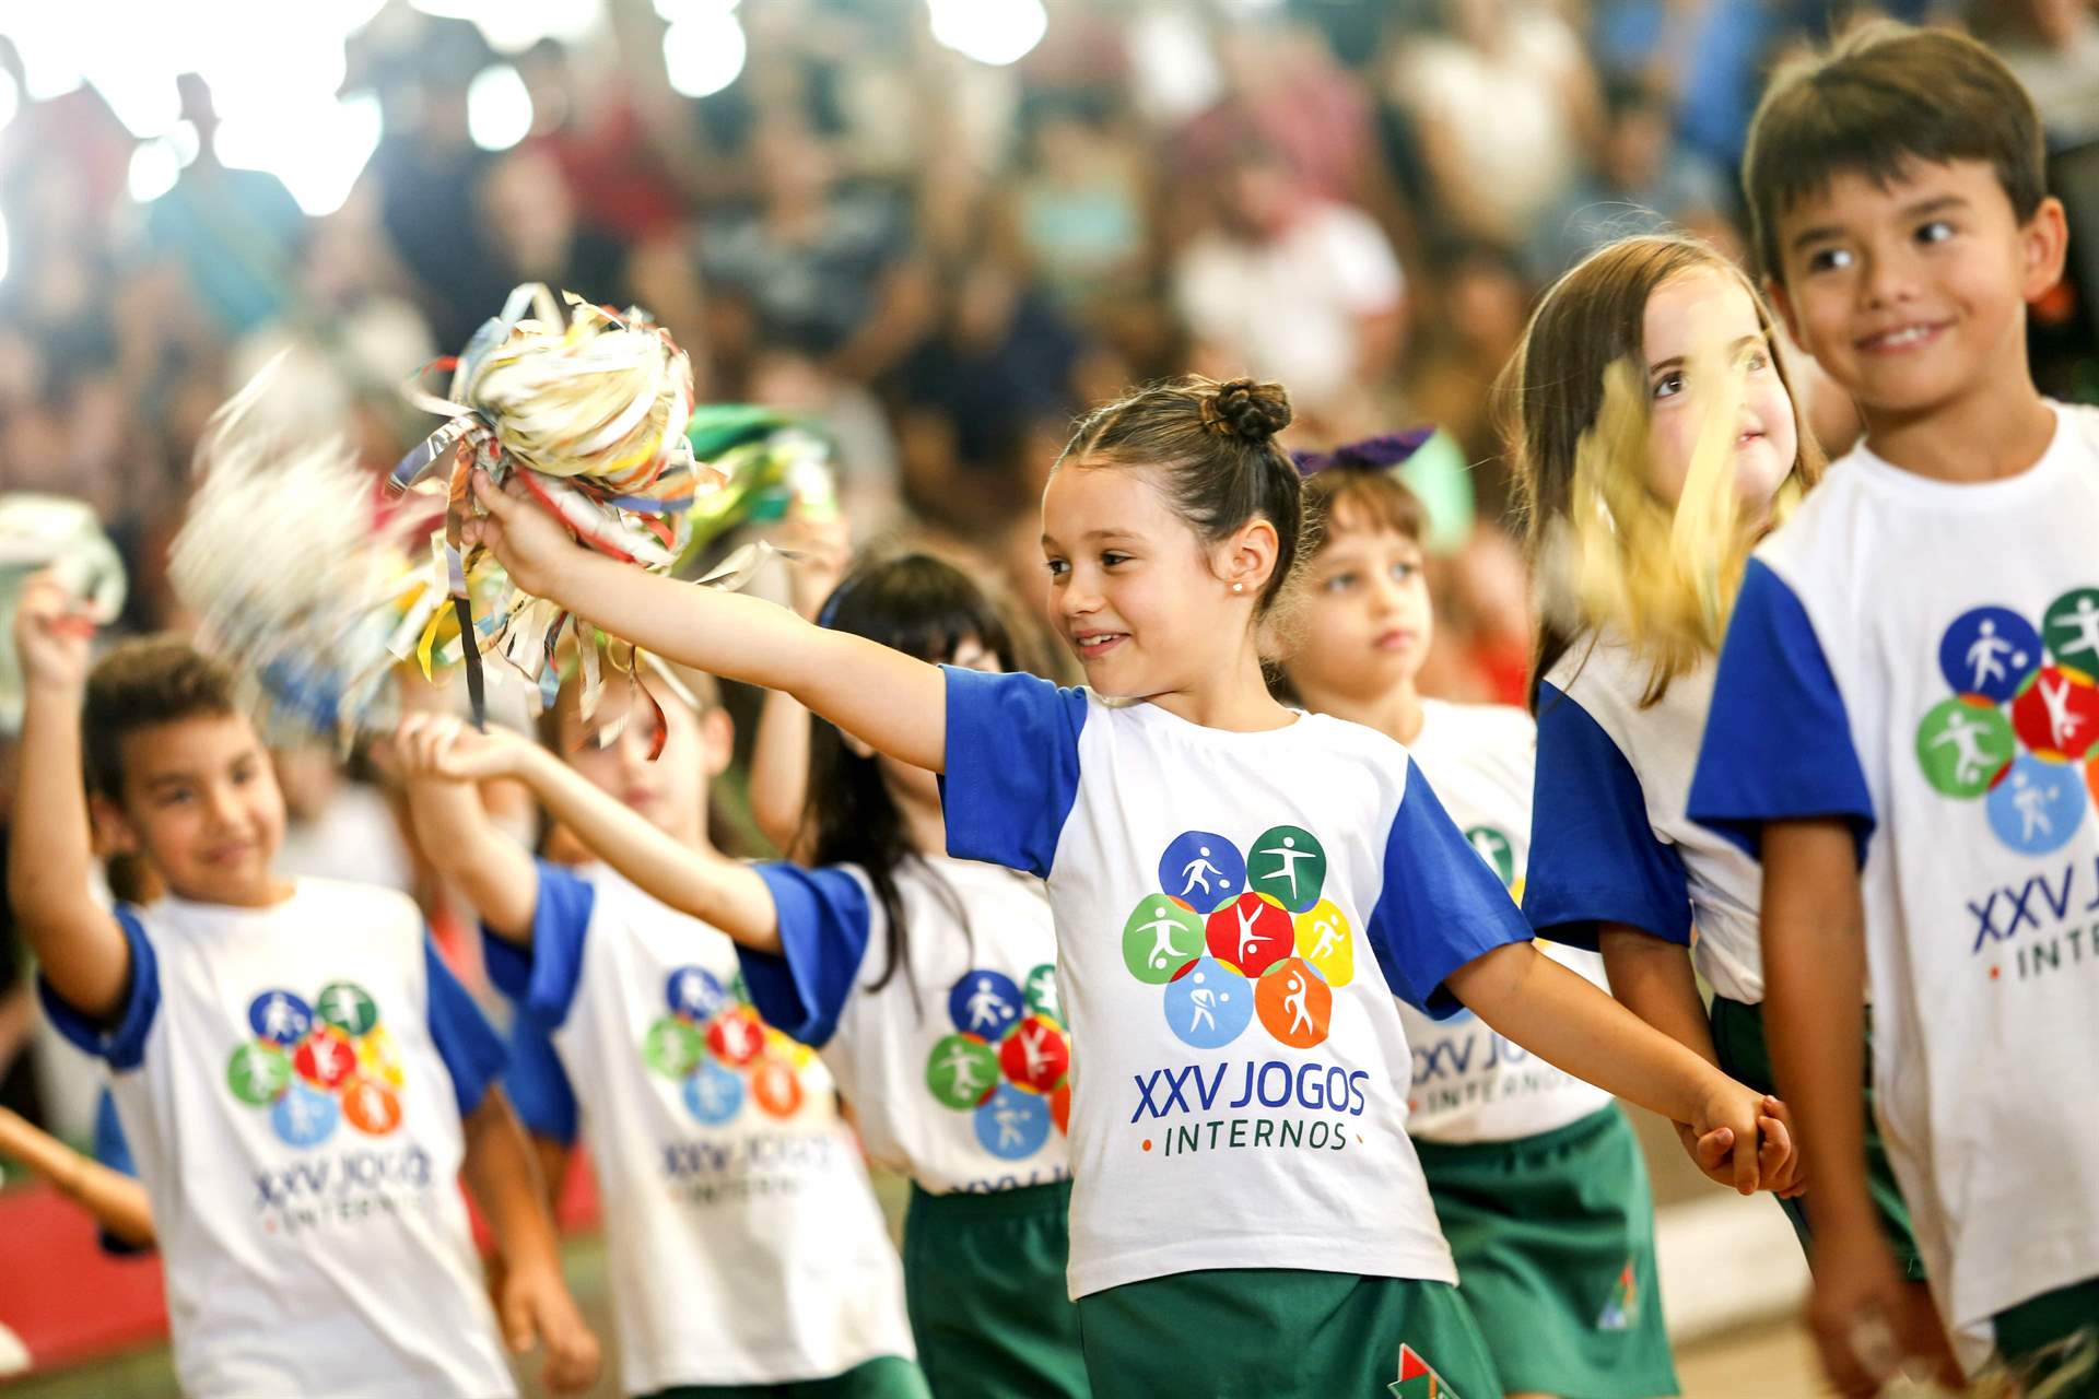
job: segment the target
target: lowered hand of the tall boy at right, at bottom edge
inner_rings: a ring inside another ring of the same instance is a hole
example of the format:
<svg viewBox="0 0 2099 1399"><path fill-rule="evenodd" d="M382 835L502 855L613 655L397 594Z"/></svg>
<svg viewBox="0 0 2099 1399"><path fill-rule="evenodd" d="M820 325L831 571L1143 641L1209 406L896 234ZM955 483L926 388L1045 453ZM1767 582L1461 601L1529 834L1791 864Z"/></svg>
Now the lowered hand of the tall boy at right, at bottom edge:
<svg viewBox="0 0 2099 1399"><path fill-rule="evenodd" d="M1837 1393L1866 1399L1904 1376L1963 1389L1960 1365L1923 1284L1904 1282L1874 1227L1816 1233L1807 1326Z"/></svg>

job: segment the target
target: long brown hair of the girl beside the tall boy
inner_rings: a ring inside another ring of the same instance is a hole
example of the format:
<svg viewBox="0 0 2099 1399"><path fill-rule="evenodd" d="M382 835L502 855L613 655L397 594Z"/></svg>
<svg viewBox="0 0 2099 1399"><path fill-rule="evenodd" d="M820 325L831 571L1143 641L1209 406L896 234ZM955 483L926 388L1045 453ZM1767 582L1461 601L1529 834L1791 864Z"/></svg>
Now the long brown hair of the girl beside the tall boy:
<svg viewBox="0 0 2099 1399"><path fill-rule="evenodd" d="M1494 386L1503 424L1503 440L1513 472L1518 508L1524 516L1524 554L1532 577L1547 579L1547 545L1557 526L1570 520L1574 499L1574 461L1583 434L1604 407L1604 378L1618 361L1637 361L1646 338L1648 298L1667 281L1694 271L1734 279L1757 308L1757 325L1772 342L1772 365L1793 401L1797 453L1786 485L1795 491L1822 476L1822 449L1801 417L1772 313L1757 287L1734 262L1706 243L1688 237L1652 235L1612 243L1551 285L1524 331L1524 344ZM1639 375L1641 382L1646 373ZM1646 399L1641 399L1646 403ZM1740 566L1727 587L1740 581ZM1730 598L1732 602L1732 591ZM1536 709L1539 684L1560 663L1574 638L1595 619L1570 625L1555 621L1551 606L1539 608L1536 646L1530 661L1530 705ZM1669 682L1685 669L1685 657L1660 657L1644 696L1654 705Z"/></svg>

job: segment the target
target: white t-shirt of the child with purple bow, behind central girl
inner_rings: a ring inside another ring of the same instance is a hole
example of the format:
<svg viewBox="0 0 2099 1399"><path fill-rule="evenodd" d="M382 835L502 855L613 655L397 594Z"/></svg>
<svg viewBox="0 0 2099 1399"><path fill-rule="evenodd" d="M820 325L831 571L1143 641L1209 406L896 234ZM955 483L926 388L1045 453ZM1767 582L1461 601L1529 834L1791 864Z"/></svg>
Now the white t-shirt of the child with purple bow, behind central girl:
<svg viewBox="0 0 2099 1399"><path fill-rule="evenodd" d="M1421 732L1406 745L1465 843L1515 898L1530 852L1536 738L1522 709L1421 701ZM1595 952L1553 942L1539 950L1604 986ZM1423 1141L1520 1141L1610 1105L1610 1093L1532 1057L1471 1011L1434 1021L1402 1000L1400 1024L1415 1051L1406 1131Z"/></svg>

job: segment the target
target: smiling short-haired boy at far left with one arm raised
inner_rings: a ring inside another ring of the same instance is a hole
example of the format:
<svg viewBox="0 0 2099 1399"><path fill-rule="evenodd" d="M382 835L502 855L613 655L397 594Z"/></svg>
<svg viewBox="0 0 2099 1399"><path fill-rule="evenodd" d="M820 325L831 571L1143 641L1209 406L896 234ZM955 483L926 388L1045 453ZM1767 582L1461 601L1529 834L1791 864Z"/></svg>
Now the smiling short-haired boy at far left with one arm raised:
<svg viewBox="0 0 2099 1399"><path fill-rule="evenodd" d="M59 1030L113 1072L168 1273L185 1395L510 1395L464 1170L508 1265L504 1332L548 1382L596 1378L502 1045L399 894L279 881L283 801L227 673L162 638L111 650L27 585L8 894ZM84 705L84 711L82 711ZM168 896L88 894L97 820Z"/></svg>

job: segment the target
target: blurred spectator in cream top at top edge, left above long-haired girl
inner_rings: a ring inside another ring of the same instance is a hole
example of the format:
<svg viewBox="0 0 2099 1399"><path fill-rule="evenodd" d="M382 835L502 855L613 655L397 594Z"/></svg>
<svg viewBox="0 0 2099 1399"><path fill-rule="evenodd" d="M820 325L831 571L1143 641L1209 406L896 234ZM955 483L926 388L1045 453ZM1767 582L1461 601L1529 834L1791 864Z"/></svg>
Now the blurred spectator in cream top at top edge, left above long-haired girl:
<svg viewBox="0 0 2099 1399"><path fill-rule="evenodd" d="M1597 128L1595 73L1539 0L1444 0L1442 17L1446 31L1400 46L1385 94L1411 122L1436 220L1518 247Z"/></svg>

